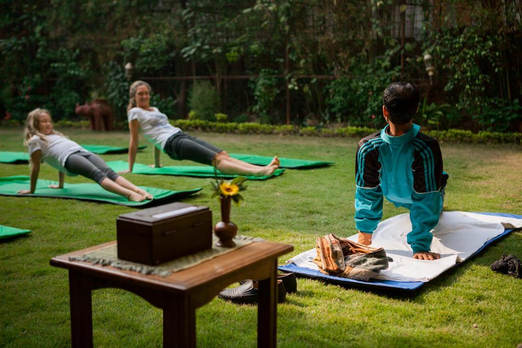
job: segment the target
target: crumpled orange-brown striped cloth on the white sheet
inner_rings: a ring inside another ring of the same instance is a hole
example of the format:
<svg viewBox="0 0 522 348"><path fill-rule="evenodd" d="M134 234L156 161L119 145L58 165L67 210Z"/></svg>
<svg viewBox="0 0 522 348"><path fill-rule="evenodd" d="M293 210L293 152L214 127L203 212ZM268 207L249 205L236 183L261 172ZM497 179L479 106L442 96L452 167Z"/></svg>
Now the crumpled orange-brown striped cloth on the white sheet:
<svg viewBox="0 0 522 348"><path fill-rule="evenodd" d="M325 274L368 281L388 268L383 248L372 248L331 233L317 237L315 249L317 255L313 261Z"/></svg>

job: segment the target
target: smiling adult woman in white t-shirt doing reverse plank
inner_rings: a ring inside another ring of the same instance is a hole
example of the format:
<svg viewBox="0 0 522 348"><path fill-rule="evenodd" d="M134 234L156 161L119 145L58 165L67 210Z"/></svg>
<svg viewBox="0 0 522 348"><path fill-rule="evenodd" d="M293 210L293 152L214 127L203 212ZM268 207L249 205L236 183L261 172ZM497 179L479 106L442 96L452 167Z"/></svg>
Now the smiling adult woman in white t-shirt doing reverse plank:
<svg viewBox="0 0 522 348"><path fill-rule="evenodd" d="M264 176L272 174L279 167L279 159L274 157L270 164L259 166L240 161L208 142L191 137L180 128L169 123L167 115L157 107L150 106L150 85L145 81L135 81L129 89L127 117L131 141L129 142L129 168L120 173L132 172L138 148L138 130L141 127L145 138L154 145L154 164L161 167L161 151L174 160L191 160L216 167L224 174Z"/></svg>

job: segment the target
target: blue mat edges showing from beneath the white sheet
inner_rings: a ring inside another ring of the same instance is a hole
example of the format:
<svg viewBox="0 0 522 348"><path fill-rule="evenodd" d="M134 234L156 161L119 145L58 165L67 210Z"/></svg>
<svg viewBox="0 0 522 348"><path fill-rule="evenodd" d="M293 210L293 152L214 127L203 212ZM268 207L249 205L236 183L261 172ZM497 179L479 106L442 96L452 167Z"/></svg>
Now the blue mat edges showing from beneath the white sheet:
<svg viewBox="0 0 522 348"><path fill-rule="evenodd" d="M522 219L522 215L510 214L510 213L491 213L491 212L478 212L478 213L484 214L484 215L494 215L494 216L501 216L501 217L507 217L507 218ZM482 251L489 244L495 242L497 239L500 239L500 238L508 235L509 233L511 233L513 231L514 231L514 229L507 229L503 233L499 234L498 236L491 238L488 242L484 243L484 245L482 245L477 251L475 251L473 254L471 254L464 262L456 263L455 266L453 266L453 267L462 265L462 263L465 263L467 260L471 259L473 256L480 253L480 251ZM450 267L449 269L452 269L453 267ZM331 283L353 285L355 287L363 287L366 289L416 291L416 290L419 290L420 287L422 287L426 283L426 282L398 282L395 280L379 280L379 279L374 279L369 282L363 282L360 280L346 279L346 278L341 278L341 277L335 277L335 275L323 274L319 271L296 266L295 263L290 263L289 265L279 266L278 269L283 272L294 272L295 274L304 275L305 277L308 277L308 278L322 279L325 281L329 281Z"/></svg>

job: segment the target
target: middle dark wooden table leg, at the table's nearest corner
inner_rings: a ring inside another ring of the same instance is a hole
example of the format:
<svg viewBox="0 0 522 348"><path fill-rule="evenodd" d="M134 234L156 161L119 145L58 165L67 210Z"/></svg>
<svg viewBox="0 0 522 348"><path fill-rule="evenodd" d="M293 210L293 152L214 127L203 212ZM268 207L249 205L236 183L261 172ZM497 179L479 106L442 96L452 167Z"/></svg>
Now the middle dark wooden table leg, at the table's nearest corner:
<svg viewBox="0 0 522 348"><path fill-rule="evenodd" d="M185 296L170 297L163 307L163 347L196 347L196 309Z"/></svg>

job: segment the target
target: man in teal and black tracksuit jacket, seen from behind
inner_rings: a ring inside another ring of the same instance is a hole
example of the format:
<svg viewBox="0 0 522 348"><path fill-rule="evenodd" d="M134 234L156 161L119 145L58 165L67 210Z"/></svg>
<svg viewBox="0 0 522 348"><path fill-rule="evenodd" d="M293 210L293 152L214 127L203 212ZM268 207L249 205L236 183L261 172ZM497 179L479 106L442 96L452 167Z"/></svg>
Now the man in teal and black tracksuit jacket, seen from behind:
<svg viewBox="0 0 522 348"><path fill-rule="evenodd" d="M419 90L394 82L383 93L388 125L359 142L355 159L355 226L359 243L370 245L383 217L383 196L396 207L410 210L412 230L407 242L413 258L434 260L431 230L442 211L447 174L442 171L438 142L413 124Z"/></svg>

